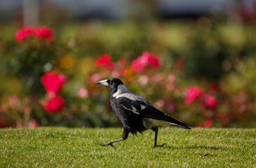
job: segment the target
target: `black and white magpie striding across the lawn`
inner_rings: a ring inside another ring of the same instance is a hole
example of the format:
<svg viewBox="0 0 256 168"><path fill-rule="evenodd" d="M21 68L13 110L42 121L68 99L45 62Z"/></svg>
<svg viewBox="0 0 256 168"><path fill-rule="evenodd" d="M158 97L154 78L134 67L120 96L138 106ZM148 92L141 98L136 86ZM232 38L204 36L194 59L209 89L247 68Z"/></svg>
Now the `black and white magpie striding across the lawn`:
<svg viewBox="0 0 256 168"><path fill-rule="evenodd" d="M123 123L123 135L121 139L109 141L109 143L101 146L112 146L116 142L123 141L128 138L128 134L142 133L145 130L153 130L155 132L154 148L157 146L158 127L164 125L177 125L184 129L190 129L180 120L168 116L166 113L159 111L145 99L137 94L129 92L123 82L119 78L110 78L98 81L97 84L106 85L111 90L110 103L112 109Z"/></svg>

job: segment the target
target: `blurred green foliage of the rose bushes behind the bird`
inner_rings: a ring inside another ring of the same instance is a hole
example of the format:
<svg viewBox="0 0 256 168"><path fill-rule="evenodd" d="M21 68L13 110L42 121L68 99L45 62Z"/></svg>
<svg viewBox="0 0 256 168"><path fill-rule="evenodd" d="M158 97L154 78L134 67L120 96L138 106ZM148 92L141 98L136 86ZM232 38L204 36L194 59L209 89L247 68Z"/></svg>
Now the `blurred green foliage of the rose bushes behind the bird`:
<svg viewBox="0 0 256 168"><path fill-rule="evenodd" d="M203 17L196 22L88 22L51 28L55 41L49 45L36 39L15 43L19 28L1 27L0 111L4 112L0 116L5 122L0 127L15 127L19 119L23 126L33 119L41 126L119 125L109 106L109 90L90 80L95 73L101 79L113 77L112 71L95 67L95 59L105 53L112 55L115 64L126 60L128 73L119 77L130 91L154 105L163 101L159 109L189 125L203 125L210 118L215 127L256 126L256 34L252 25L238 27ZM159 55L161 68L130 72L130 63L145 50ZM40 78L48 70L68 78L60 92L65 109L56 114L42 107L46 94ZM175 75L173 83L168 80L170 73ZM149 79L144 84L142 76ZM217 108L201 109L202 102L184 104L190 85L215 96ZM212 85L215 89L210 89ZM88 89L88 97L77 97L80 87ZM21 99L18 108L8 100L13 94ZM168 109L169 104L174 110ZM29 114L23 113L24 106L30 107Z"/></svg>

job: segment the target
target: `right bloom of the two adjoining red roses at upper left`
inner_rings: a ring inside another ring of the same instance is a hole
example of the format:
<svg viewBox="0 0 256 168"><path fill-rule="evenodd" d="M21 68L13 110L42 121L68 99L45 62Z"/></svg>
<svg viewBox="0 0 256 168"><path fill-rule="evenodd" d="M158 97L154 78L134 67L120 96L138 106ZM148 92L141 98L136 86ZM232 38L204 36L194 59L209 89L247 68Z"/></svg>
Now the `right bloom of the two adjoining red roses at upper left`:
<svg viewBox="0 0 256 168"><path fill-rule="evenodd" d="M37 27L35 31L35 35L36 35L36 38L46 39L49 42L52 42L54 38L53 30L46 26Z"/></svg>

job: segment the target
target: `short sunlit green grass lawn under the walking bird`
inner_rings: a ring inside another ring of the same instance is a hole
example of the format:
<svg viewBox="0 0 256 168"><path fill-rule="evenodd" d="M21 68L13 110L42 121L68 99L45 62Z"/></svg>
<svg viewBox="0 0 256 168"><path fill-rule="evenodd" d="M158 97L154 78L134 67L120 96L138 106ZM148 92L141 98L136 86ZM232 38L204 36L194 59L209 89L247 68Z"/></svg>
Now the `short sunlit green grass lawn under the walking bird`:
<svg viewBox="0 0 256 168"><path fill-rule="evenodd" d="M0 130L0 167L256 167L256 129L161 128L119 139L121 128Z"/></svg>

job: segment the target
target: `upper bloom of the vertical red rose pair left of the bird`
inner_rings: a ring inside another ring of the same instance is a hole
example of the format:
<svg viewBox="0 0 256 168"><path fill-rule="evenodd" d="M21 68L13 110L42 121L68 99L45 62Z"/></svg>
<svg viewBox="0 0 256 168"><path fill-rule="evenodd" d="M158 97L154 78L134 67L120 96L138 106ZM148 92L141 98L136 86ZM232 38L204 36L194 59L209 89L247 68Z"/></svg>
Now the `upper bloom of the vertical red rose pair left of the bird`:
<svg viewBox="0 0 256 168"><path fill-rule="evenodd" d="M41 83L43 83L47 92L58 92L61 90L63 83L65 83L67 78L58 73L56 71L46 72L41 77Z"/></svg>

